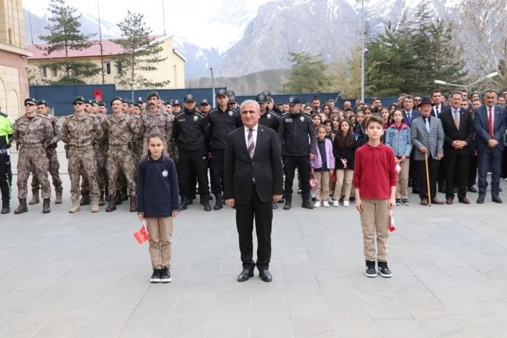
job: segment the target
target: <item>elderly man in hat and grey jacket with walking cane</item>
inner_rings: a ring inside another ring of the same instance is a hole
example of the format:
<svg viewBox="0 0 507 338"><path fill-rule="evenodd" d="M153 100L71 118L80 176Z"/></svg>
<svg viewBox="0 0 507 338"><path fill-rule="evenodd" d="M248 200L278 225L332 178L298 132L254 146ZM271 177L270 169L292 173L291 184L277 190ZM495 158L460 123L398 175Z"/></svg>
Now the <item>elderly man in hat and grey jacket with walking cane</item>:
<svg viewBox="0 0 507 338"><path fill-rule="evenodd" d="M424 97L420 107L421 116L412 121L410 128L412 146L415 148L414 160L417 165L417 177L419 178L419 197L421 205L428 205L428 198L431 198L432 204L441 205L443 202L436 199L435 188L438 164L443 158L444 132L441 120L431 116L432 101L428 97ZM428 196L425 154L428 154L431 196Z"/></svg>

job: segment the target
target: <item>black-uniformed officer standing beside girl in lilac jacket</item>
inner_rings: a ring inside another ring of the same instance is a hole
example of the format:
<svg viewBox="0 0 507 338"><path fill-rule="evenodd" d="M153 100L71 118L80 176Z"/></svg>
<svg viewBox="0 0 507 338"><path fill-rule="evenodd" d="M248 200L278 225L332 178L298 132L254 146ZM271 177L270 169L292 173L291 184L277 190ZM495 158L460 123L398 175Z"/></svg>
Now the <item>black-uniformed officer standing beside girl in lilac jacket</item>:
<svg viewBox="0 0 507 338"><path fill-rule="evenodd" d="M301 207L313 209L310 203L310 159L317 153L317 136L312 119L301 114L301 100L297 96L288 99L289 114L282 116L278 137L284 157L284 209L292 207L294 172L297 167L301 177Z"/></svg>

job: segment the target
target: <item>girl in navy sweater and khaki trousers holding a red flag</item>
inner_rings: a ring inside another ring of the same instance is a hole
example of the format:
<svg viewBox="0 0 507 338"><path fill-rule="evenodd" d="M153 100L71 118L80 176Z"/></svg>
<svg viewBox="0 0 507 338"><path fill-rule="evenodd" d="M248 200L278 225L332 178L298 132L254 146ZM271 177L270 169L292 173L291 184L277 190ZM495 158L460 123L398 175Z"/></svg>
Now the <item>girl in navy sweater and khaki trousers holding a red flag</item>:
<svg viewBox="0 0 507 338"><path fill-rule="evenodd" d="M151 256L151 283L171 282L171 237L173 218L180 213L176 167L164 148L164 136L152 131L147 136L147 154L137 174L137 213L146 220Z"/></svg>

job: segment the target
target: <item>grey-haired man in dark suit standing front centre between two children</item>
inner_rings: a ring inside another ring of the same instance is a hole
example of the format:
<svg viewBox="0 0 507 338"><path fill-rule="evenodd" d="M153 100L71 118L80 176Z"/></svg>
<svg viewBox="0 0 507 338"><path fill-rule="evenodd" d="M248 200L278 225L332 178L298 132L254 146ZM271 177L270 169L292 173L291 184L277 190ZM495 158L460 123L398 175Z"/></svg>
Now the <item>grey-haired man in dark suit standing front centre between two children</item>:
<svg viewBox="0 0 507 338"><path fill-rule="evenodd" d="M240 106L244 127L227 135L224 154L225 204L236 207L236 228L243 271L238 282L253 277L257 266L264 282L271 282L271 222L273 201L282 198L282 153L273 129L259 125L260 107L247 100ZM253 218L256 220L257 262L253 262Z"/></svg>

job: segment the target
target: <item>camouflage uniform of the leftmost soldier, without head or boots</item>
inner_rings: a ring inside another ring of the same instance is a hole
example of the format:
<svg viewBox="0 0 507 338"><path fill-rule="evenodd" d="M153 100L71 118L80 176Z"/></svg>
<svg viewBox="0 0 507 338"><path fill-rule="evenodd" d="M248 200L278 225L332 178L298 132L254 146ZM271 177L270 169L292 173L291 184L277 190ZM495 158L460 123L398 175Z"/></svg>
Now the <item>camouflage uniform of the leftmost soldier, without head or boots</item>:
<svg viewBox="0 0 507 338"><path fill-rule="evenodd" d="M23 115L14 122L14 140L21 146L18 155L18 198L27 198L27 181L32 170L40 181L42 198L51 198L45 147L53 137L53 126L45 116L36 114L30 120Z"/></svg>

